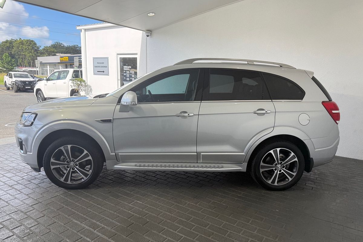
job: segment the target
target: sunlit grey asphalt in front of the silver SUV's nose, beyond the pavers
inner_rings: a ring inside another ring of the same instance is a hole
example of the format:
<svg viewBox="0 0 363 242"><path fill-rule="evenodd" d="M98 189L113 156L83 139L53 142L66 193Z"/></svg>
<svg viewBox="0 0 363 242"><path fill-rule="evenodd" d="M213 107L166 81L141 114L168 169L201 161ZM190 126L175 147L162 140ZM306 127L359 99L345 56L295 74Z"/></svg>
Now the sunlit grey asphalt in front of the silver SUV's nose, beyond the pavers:
<svg viewBox="0 0 363 242"><path fill-rule="evenodd" d="M14 135L15 122L24 107L37 102L33 91L14 93L0 89L0 139Z"/></svg>

